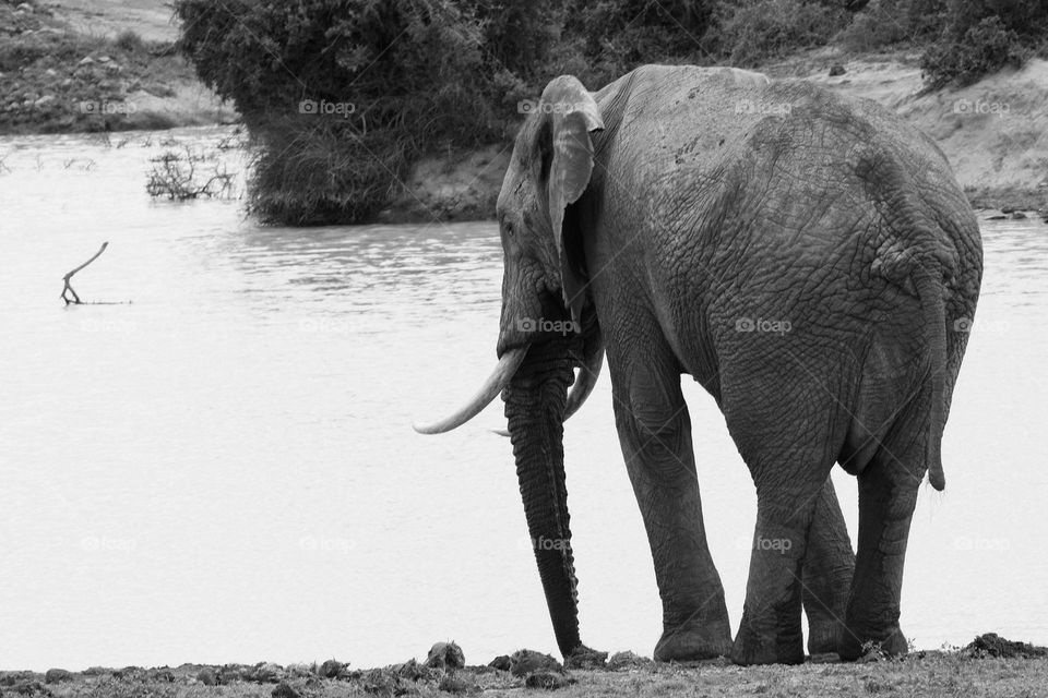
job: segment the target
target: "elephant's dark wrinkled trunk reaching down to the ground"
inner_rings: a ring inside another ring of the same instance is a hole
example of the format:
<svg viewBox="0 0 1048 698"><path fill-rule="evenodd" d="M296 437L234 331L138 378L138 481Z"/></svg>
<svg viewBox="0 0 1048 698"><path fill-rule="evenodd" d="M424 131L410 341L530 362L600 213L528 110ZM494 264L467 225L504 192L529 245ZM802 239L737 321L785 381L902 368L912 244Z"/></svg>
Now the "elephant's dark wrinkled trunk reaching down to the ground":
<svg viewBox="0 0 1048 698"><path fill-rule="evenodd" d="M563 421L573 362L559 345L533 345L503 400L538 574L557 645L568 658L582 642L564 486Z"/></svg>

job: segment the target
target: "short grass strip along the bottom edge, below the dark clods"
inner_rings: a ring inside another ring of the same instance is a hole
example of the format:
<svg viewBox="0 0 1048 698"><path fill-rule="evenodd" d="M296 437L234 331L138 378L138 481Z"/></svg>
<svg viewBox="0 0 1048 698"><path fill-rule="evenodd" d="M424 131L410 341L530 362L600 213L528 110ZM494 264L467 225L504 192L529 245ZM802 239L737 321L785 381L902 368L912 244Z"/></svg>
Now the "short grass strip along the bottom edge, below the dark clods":
<svg viewBox="0 0 1048 698"><path fill-rule="evenodd" d="M410 667L407 672L404 667ZM400 671L400 678L396 672ZM196 676L201 667L174 670L94 670L71 681L45 683L40 674L0 675L4 695L46 695L55 698L253 698L298 695L301 698L409 695L446 696L450 691L485 696L548 694L526 688L526 679L489 667L466 667L452 674L409 663L401 667L344 672L338 679L320 678L315 667L287 667L284 678L294 694L273 683L233 681L209 686ZM216 673L222 674L222 670ZM977 658L967 652L917 652L905 660L859 663L808 663L801 666L741 667L727 662L702 665L645 664L628 671L572 671L559 690L564 698L600 696L1048 696L1048 659ZM441 690L441 687L444 690Z"/></svg>

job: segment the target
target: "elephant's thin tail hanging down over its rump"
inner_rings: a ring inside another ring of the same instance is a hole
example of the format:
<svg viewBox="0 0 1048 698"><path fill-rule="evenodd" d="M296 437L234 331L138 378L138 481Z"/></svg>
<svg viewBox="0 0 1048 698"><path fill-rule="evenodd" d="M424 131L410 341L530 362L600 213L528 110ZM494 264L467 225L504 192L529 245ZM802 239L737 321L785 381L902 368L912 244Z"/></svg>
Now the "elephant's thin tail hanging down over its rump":
<svg viewBox="0 0 1048 698"><path fill-rule="evenodd" d="M942 282L926 266L918 266L913 275L914 288L920 299L925 340L929 358L931 409L928 417L928 481L939 492L946 486L942 472L942 432L946 424L946 312L942 299Z"/></svg>

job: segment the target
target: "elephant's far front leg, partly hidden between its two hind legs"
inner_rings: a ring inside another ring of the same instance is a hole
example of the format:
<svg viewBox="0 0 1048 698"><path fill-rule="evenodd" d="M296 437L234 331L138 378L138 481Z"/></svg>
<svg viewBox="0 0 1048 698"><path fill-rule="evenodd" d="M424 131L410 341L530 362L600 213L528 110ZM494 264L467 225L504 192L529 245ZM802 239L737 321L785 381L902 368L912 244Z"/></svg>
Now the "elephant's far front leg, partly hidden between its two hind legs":
<svg viewBox="0 0 1048 698"><path fill-rule="evenodd" d="M855 553L837 502L833 480L826 478L808 531L801 574L808 653L836 653L844 631L848 589L855 574Z"/></svg>

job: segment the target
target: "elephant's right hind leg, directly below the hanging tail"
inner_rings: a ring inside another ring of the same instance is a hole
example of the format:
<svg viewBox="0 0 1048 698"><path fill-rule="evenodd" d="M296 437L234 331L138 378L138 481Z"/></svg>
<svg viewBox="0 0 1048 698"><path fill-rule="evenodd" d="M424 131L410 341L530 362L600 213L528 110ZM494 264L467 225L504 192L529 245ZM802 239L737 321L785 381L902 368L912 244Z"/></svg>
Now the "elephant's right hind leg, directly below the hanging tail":
<svg viewBox="0 0 1048 698"><path fill-rule="evenodd" d="M913 453L915 449L908 449ZM867 642L881 651L905 654L906 638L898 627L903 563L909 524L917 503L921 472L900 461L883 446L859 473L859 539L855 575L841 637L842 659L864 654Z"/></svg>

